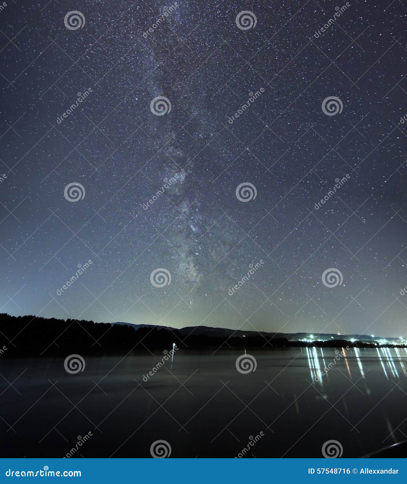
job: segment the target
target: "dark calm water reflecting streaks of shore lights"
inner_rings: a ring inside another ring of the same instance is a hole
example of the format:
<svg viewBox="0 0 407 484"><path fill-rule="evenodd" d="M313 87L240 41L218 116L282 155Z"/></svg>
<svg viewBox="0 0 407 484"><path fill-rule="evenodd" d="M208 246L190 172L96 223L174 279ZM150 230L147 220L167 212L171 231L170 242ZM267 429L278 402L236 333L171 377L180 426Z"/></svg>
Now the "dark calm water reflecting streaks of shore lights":
<svg viewBox="0 0 407 484"><path fill-rule="evenodd" d="M62 457L88 432L73 457L149 457L156 440L171 457L234 457L261 432L246 456L321 457L334 439L359 457L406 439L405 349L250 349L247 374L244 350L212 352L179 349L147 382L159 351L86 357L77 374L63 358L1 357L1 456Z"/></svg>

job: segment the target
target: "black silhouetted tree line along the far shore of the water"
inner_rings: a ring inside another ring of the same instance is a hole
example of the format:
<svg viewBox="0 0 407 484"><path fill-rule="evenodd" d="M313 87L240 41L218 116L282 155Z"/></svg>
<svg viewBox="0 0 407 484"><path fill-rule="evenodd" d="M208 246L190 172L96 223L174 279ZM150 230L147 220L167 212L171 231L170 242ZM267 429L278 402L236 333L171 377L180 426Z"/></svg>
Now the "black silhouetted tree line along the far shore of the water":
<svg viewBox="0 0 407 484"><path fill-rule="evenodd" d="M95 323L76 319L38 318L0 314L0 353L4 356L66 355L127 353L131 350L171 349L178 347L201 348L284 348L317 346L328 348L375 348L371 343L346 340L315 341L304 343L289 341L277 334L236 333L231 337L208 334L180 333L178 330L139 328L132 326ZM391 345L389 345L391 346Z"/></svg>

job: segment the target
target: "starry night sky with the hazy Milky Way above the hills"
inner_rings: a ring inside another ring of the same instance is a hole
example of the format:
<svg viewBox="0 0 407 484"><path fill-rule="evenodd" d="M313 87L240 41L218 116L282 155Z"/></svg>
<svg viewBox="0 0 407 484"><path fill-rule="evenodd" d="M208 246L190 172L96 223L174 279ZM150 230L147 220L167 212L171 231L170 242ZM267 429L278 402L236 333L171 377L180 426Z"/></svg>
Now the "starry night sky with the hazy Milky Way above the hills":
<svg viewBox="0 0 407 484"><path fill-rule="evenodd" d="M8 1L0 311L405 335L407 8L344 4Z"/></svg>

